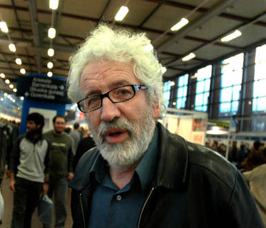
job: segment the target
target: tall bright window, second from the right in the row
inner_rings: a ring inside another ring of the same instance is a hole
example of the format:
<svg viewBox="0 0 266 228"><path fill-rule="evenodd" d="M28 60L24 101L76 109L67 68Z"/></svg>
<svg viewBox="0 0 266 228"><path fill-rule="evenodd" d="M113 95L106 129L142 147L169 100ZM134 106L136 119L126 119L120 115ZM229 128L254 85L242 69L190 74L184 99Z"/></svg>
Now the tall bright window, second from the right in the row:
<svg viewBox="0 0 266 228"><path fill-rule="evenodd" d="M222 61L220 114L236 115L240 99L244 54L240 53Z"/></svg>

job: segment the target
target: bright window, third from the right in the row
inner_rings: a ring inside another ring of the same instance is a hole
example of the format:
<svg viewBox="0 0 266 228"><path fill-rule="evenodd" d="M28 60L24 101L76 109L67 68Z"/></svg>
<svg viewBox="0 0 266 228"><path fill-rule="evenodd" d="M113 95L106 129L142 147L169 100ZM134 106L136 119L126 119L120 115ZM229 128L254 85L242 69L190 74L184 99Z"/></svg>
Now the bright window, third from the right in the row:
<svg viewBox="0 0 266 228"><path fill-rule="evenodd" d="M207 111L207 104L209 99L209 88L211 84L211 69L212 66L206 66L201 68L196 73L197 84L196 84L196 98L195 98L195 109L197 111Z"/></svg>

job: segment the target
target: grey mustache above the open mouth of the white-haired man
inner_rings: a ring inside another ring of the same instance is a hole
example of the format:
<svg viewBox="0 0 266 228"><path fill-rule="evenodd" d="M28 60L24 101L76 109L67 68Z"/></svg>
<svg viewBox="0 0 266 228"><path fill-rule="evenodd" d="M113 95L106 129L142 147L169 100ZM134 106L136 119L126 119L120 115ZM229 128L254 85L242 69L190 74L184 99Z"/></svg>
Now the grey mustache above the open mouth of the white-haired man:
<svg viewBox="0 0 266 228"><path fill-rule="evenodd" d="M115 119L112 122L101 122L98 126L98 136L104 138L106 131L113 129L124 129L129 132L129 135L133 137L134 124L126 119Z"/></svg>

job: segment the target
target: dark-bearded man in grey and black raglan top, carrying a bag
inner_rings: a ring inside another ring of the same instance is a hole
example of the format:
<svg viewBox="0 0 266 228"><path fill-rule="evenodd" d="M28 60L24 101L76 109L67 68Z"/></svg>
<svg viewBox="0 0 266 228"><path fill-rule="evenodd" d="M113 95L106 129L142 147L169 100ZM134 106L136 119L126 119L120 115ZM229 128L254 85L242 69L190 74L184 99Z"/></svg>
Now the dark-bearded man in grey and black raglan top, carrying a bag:
<svg viewBox="0 0 266 228"><path fill-rule="evenodd" d="M12 228L31 226L32 213L48 191L50 144L42 135L44 116L30 113L27 133L17 138L10 155L10 189L14 191Z"/></svg>

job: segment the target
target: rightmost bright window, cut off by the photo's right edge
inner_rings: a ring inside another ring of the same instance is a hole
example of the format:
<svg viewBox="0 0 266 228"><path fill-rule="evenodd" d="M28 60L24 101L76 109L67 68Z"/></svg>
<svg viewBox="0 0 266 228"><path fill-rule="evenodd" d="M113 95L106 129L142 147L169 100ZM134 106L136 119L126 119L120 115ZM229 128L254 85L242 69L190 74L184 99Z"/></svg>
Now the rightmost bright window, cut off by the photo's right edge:
<svg viewBox="0 0 266 228"><path fill-rule="evenodd" d="M266 44L256 48L252 111L266 110Z"/></svg>

